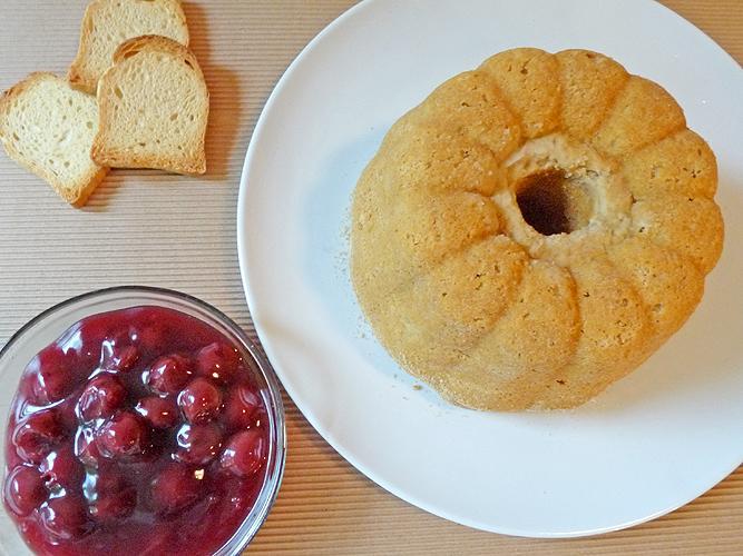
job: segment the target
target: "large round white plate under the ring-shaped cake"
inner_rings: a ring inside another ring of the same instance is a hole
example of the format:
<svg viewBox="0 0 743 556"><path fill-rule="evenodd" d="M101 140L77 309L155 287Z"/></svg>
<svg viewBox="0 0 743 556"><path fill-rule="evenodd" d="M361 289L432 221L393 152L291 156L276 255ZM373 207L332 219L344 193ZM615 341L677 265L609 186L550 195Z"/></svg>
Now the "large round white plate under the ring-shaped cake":
<svg viewBox="0 0 743 556"><path fill-rule="evenodd" d="M666 87L720 161L722 260L686 326L570 413L485 414L416 384L364 325L348 276L349 201L384 132L500 50L605 52ZM292 399L351 464L472 527L580 536L652 519L743 460L743 72L652 1L370 0L276 86L243 172L237 239L256 329Z"/></svg>

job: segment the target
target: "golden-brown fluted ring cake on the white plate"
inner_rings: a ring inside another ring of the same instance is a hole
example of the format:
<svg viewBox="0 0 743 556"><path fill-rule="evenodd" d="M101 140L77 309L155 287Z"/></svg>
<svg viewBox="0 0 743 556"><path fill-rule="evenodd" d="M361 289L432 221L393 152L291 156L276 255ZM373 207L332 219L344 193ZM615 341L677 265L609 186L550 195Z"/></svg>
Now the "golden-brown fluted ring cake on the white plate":
<svg viewBox="0 0 743 556"><path fill-rule="evenodd" d="M508 50L387 133L354 192L353 285L379 340L448 400L575 407L698 304L716 185L658 85L596 52Z"/></svg>

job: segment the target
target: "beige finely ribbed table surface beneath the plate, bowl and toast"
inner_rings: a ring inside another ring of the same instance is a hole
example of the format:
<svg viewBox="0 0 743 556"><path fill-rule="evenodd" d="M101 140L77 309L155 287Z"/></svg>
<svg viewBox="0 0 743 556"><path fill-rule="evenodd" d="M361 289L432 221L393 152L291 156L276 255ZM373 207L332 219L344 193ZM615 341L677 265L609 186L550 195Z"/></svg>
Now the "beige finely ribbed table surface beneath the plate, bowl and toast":
<svg viewBox="0 0 743 556"><path fill-rule="evenodd" d="M0 156L0 345L57 301L134 282L198 296L253 332L235 246L245 149L282 71L352 3L185 3L192 46L212 93L204 178L116 171L88 207L76 211ZM741 0L664 3L743 60ZM30 71L63 72L75 56L85 4L2 0L0 88ZM677 512L628 530L575 540L510 538L446 522L388 494L335 454L289 399L286 408L284 484L252 553L743 553L743 468Z"/></svg>

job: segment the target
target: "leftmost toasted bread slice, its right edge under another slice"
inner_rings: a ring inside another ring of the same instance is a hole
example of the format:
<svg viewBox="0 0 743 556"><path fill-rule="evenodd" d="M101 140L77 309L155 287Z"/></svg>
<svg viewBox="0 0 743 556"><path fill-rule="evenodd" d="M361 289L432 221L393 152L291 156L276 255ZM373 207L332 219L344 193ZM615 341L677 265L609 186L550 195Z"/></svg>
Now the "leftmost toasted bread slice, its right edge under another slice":
<svg viewBox="0 0 743 556"><path fill-rule="evenodd" d="M31 73L0 97L0 142L8 156L81 207L108 168L90 159L96 98L53 73Z"/></svg>

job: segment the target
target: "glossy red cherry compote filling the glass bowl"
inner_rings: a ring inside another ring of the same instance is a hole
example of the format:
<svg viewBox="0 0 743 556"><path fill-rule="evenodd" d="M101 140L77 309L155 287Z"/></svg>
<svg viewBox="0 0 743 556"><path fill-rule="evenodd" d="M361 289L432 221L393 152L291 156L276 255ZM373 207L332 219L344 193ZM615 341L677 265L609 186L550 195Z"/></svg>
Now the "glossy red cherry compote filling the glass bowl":
<svg viewBox="0 0 743 556"><path fill-rule="evenodd" d="M209 554L263 485L267 413L241 349L162 307L88 317L27 366L6 508L41 554Z"/></svg>

